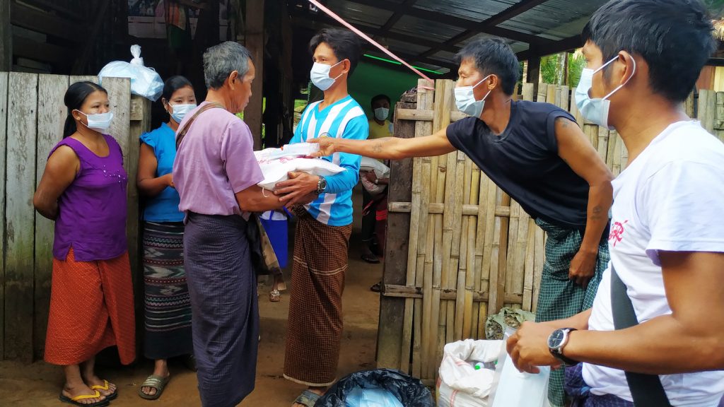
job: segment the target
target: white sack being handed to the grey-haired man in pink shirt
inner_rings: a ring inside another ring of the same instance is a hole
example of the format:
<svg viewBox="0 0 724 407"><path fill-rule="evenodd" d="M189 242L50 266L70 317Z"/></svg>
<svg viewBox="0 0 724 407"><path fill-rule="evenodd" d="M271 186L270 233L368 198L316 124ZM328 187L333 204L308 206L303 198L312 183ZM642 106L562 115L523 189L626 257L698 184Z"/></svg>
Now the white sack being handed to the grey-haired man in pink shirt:
<svg viewBox="0 0 724 407"><path fill-rule="evenodd" d="M286 150L287 146L284 149ZM294 155L271 158L277 157L275 154L278 154L278 151L279 148L265 148L261 151L254 151L256 161L258 161L261 168L261 174L264 175L264 180L257 184L261 188L273 190L277 182L289 179L290 172L306 172L311 175L329 177L345 170L325 159L308 159Z"/></svg>

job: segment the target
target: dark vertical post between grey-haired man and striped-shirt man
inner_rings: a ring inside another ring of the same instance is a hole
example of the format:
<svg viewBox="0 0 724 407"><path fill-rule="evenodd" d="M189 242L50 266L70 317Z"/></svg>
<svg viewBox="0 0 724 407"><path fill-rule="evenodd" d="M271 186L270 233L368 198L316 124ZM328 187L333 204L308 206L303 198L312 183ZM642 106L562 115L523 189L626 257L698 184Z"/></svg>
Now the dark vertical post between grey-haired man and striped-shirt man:
<svg viewBox="0 0 724 407"><path fill-rule="evenodd" d="M244 122L254 136L254 149L261 148L261 114L263 108L264 83L264 0L246 2L245 22L246 48L251 52L251 59L256 68L256 77L251 84L251 98L244 109ZM271 129L274 131L274 129Z"/></svg>

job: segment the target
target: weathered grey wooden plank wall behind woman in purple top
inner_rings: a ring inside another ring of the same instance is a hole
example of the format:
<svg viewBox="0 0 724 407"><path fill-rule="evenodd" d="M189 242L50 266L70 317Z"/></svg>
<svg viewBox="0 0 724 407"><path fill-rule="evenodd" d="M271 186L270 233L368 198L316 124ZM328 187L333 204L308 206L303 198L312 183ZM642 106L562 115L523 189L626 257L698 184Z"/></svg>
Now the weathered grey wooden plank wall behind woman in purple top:
<svg viewBox="0 0 724 407"><path fill-rule="evenodd" d="M35 214L33 193L51 148L62 138L67 116L64 93L80 80L98 82L88 76L0 72L0 360L30 362L43 357L54 224ZM138 137L149 130L150 102L130 95L127 78L108 78L103 85L114 112L110 133L122 146L129 175L127 238L136 277Z"/></svg>

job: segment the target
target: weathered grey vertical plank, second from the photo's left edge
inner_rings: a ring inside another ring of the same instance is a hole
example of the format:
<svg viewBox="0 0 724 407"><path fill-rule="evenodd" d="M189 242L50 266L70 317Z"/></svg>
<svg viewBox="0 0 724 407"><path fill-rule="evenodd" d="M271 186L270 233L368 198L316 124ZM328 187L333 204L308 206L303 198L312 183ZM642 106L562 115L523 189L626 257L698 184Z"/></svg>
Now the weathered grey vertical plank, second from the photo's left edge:
<svg viewBox="0 0 724 407"><path fill-rule="evenodd" d="M5 248L5 358L33 360L35 133L38 75L10 72Z"/></svg>

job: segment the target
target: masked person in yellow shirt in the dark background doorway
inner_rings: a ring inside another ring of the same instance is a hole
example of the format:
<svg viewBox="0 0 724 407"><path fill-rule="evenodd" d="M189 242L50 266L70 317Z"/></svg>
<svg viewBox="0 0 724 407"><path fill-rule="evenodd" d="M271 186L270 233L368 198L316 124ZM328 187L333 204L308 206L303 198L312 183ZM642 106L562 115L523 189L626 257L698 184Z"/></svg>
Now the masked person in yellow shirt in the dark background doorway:
<svg viewBox="0 0 724 407"><path fill-rule="evenodd" d="M390 115L390 96L377 95L372 98L373 117L369 120L369 139L392 137L392 123L387 119ZM382 161L382 160L380 160ZM382 256L379 245L379 236L376 235L377 209L387 197L387 184L389 178L378 178L374 171L360 171L360 182L362 183L362 260L377 264L378 256ZM373 185L382 185L375 187ZM379 191L374 195L370 190ZM379 283L372 286L371 290L379 291Z"/></svg>

